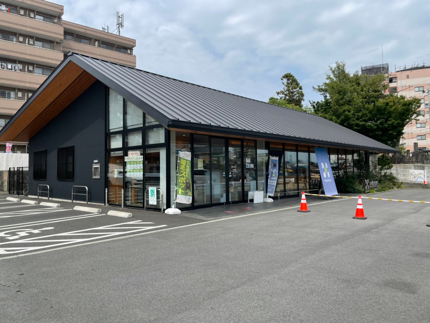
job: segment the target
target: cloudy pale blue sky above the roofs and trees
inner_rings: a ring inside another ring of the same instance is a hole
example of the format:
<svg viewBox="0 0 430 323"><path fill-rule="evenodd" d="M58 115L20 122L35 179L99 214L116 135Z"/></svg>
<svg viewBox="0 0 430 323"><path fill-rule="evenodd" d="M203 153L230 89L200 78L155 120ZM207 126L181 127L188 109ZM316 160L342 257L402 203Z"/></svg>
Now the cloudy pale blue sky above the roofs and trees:
<svg viewBox="0 0 430 323"><path fill-rule="evenodd" d="M56 1L53 1L56 2ZM329 65L430 62L430 1L67 0L64 20L136 39L137 68L267 101L291 72L305 103Z"/></svg>

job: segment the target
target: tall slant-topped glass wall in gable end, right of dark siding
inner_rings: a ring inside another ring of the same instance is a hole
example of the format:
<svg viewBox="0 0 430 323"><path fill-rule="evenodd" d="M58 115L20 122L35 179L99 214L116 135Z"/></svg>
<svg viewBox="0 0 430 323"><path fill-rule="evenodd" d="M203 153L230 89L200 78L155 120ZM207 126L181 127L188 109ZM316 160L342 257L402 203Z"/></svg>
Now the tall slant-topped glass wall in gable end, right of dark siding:
<svg viewBox="0 0 430 323"><path fill-rule="evenodd" d="M111 89L107 110L108 203L143 207L144 190L149 186L161 189L166 196L164 127ZM160 202L147 206L161 207Z"/></svg>

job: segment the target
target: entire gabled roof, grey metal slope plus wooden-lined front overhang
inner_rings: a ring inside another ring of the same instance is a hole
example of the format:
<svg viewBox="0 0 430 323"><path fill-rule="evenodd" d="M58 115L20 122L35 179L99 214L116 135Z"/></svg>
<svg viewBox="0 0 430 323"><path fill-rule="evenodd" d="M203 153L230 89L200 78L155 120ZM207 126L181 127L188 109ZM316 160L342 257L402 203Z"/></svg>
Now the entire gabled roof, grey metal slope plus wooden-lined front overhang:
<svg viewBox="0 0 430 323"><path fill-rule="evenodd" d="M316 115L76 53L69 53L3 127L0 141L28 141L96 80L169 129L396 152Z"/></svg>

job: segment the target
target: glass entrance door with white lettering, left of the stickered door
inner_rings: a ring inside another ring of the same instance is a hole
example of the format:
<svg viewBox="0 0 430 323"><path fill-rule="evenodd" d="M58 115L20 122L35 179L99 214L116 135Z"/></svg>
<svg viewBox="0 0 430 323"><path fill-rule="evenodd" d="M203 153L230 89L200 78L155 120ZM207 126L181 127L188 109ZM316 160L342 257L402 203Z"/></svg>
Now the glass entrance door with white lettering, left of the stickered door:
<svg viewBox="0 0 430 323"><path fill-rule="evenodd" d="M243 200L242 141L228 140L228 190L230 202Z"/></svg>

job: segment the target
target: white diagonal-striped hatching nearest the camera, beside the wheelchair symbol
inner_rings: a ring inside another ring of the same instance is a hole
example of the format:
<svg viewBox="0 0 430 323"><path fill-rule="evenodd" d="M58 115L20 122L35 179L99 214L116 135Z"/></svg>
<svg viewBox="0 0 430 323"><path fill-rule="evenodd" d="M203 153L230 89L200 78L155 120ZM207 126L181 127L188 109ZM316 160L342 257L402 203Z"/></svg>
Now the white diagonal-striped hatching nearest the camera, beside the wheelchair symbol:
<svg viewBox="0 0 430 323"><path fill-rule="evenodd" d="M135 226L133 226L135 224ZM43 248L50 248L58 245L67 245L71 243L76 242L84 242L94 239L101 239L101 238L107 238L112 236L118 236L120 234L125 233L133 233L133 232L139 232L144 230L151 230L151 229L157 229L161 227L167 227L167 225L159 225L159 226L139 226L141 224L153 224L152 222L142 222L141 220L138 221L131 221L131 222L125 222L122 224L111 224L106 225L103 227L95 227L90 229L84 229L84 230L77 230L77 231L71 231L71 232L65 232L65 233L57 233L52 234L49 236L41 236L41 237L35 237L35 238L28 238L28 239L22 239L18 241L10 241L10 242L2 242L0 243L0 254L12 254L12 253L18 253L18 252L25 252L25 251L33 251L37 249L43 249ZM131 227L123 227L123 225L132 225ZM117 231L117 232L111 232L109 230L124 230L125 231ZM132 230L127 230L132 229ZM91 230L106 230L106 232L89 232ZM84 239L57 239L61 236L81 236L81 235L87 235L88 238ZM46 239L55 237L55 239ZM6 247L6 245L19 245L19 244L33 244L34 242L59 242L59 243L51 243L49 245L40 245L40 246L25 246L25 247Z"/></svg>

